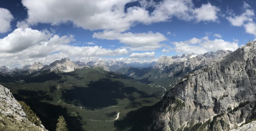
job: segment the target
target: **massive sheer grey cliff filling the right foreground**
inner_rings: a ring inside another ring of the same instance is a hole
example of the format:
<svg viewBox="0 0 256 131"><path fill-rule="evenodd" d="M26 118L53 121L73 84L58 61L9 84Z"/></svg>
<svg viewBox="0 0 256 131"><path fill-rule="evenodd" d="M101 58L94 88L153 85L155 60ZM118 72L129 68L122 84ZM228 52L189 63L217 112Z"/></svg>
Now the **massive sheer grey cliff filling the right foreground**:
<svg viewBox="0 0 256 131"><path fill-rule="evenodd" d="M230 130L256 117L256 42L190 73L155 105L147 130Z"/></svg>

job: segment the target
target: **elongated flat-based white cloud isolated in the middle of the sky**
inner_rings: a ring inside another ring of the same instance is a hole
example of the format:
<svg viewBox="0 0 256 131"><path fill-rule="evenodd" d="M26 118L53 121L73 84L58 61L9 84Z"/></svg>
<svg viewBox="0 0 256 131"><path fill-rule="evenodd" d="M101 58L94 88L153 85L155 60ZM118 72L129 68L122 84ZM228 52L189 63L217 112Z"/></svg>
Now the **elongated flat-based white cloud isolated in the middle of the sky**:
<svg viewBox="0 0 256 131"><path fill-rule="evenodd" d="M119 40L120 43L124 43L131 47L131 50L155 50L161 48L159 42L167 40L163 34L156 32L147 33L119 33L115 31L104 30L93 34L93 38L106 39L106 40Z"/></svg>

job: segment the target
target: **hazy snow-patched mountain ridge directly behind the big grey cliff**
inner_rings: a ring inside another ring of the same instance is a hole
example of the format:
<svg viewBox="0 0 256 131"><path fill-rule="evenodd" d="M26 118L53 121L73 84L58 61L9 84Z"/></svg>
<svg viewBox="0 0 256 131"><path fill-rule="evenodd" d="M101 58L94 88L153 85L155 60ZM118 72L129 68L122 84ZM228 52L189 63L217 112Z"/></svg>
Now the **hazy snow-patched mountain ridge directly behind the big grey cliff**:
<svg viewBox="0 0 256 131"><path fill-rule="evenodd" d="M231 51L219 50L204 54L183 54L182 56L161 57L152 70L143 78L171 89L177 82L192 71L216 62ZM168 89L168 88L167 88Z"/></svg>

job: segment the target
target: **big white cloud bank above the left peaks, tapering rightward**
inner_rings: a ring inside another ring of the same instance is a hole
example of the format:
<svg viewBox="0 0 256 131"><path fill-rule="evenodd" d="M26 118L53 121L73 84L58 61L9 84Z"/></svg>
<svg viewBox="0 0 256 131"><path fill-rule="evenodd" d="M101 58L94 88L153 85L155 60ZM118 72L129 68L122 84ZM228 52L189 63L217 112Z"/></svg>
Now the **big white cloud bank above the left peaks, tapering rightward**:
<svg viewBox="0 0 256 131"><path fill-rule="evenodd" d="M0 63L13 68L18 62L49 64L61 58L86 58L128 54L125 48L106 49L101 46L74 46L74 36L58 36L47 30L18 28L0 39ZM11 59L11 60L10 60Z"/></svg>

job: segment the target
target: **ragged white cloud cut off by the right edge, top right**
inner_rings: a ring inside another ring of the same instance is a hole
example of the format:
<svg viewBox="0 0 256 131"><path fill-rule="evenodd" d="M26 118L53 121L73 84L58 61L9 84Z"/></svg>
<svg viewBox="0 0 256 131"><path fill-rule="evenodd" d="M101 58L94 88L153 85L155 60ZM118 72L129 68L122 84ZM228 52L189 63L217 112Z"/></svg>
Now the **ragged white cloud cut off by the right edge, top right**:
<svg viewBox="0 0 256 131"><path fill-rule="evenodd" d="M231 16L227 17L227 19L232 26L243 26L246 33L254 34L256 36L256 24L253 21L254 17L254 10L249 6L249 4L244 2L243 13L240 15L232 13Z"/></svg>

